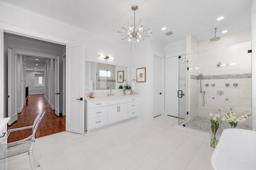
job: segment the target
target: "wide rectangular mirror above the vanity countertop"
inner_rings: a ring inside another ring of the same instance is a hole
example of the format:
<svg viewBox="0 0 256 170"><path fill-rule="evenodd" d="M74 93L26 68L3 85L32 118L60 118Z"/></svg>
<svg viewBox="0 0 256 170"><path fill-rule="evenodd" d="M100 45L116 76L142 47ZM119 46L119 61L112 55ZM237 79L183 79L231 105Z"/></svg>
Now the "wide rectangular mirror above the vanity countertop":
<svg viewBox="0 0 256 170"><path fill-rule="evenodd" d="M122 72L122 79L127 82L128 67L86 61L85 91L118 89L120 85L123 85L117 77L120 72Z"/></svg>

